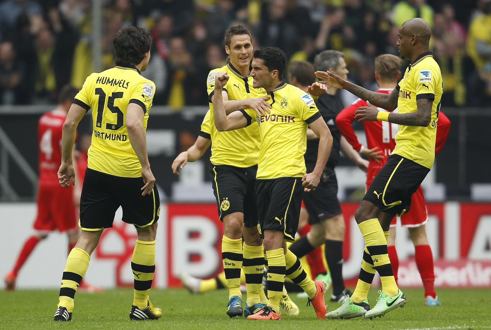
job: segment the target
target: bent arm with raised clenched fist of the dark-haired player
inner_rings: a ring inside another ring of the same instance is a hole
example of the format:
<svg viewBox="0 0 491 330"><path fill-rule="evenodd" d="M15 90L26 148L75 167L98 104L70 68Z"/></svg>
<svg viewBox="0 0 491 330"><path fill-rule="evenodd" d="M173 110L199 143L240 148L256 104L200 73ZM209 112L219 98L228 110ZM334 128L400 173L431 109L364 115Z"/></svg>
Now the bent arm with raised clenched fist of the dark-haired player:
<svg viewBox="0 0 491 330"><path fill-rule="evenodd" d="M234 111L227 116L223 107L222 91L228 81L227 72L217 72L215 75L215 93L213 95L213 112L215 126L219 132L232 131L247 126L247 118L239 111ZM219 97L216 97L220 95Z"/></svg>

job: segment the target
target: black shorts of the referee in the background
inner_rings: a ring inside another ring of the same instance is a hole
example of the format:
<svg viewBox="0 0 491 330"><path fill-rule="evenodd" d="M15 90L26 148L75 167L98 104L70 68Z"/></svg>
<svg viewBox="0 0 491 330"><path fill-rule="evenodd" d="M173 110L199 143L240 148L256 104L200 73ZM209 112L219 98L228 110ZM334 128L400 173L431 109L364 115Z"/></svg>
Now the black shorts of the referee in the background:
<svg viewBox="0 0 491 330"><path fill-rule="evenodd" d="M322 173L321 182L315 190L303 194L303 204L308 212L308 222L312 225L341 214L341 205L337 199L336 172L326 168Z"/></svg>

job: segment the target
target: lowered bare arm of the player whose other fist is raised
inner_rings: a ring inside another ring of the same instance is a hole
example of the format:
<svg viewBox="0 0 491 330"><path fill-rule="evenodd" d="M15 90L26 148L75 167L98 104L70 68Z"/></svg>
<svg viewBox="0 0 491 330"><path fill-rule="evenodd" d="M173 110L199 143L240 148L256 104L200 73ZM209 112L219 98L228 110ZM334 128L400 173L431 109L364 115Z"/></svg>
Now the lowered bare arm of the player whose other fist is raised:
<svg viewBox="0 0 491 330"><path fill-rule="evenodd" d="M312 121L309 127L319 137L319 149L317 151L317 162L315 163L314 170L311 173L305 174L302 178L302 186L305 191L316 189L319 185L332 147L332 135L322 117Z"/></svg>

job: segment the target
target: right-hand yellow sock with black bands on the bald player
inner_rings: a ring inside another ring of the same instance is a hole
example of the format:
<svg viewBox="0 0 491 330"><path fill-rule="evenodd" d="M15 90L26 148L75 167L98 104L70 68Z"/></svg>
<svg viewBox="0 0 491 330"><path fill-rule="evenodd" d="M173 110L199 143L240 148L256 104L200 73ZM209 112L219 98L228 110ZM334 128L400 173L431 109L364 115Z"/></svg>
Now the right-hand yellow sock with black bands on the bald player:
<svg viewBox="0 0 491 330"><path fill-rule="evenodd" d="M387 253L387 241L377 218L368 219L358 224L368 252L372 258L375 269L379 272L382 282L382 292L388 296L395 296L399 292L397 283L392 273L389 255Z"/></svg>

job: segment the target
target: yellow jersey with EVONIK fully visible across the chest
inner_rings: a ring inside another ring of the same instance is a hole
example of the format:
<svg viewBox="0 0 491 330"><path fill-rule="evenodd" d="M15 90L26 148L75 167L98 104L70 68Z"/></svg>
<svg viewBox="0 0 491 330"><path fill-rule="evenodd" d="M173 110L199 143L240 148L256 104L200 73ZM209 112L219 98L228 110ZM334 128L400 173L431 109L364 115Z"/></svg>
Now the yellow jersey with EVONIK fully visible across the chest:
<svg viewBox="0 0 491 330"><path fill-rule="evenodd" d="M261 149L256 179L302 177L306 172L303 155L307 126L321 113L309 94L284 80L268 96L272 105L268 116L259 116L251 109L242 111L248 123L255 118L259 125Z"/></svg>

